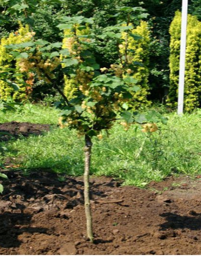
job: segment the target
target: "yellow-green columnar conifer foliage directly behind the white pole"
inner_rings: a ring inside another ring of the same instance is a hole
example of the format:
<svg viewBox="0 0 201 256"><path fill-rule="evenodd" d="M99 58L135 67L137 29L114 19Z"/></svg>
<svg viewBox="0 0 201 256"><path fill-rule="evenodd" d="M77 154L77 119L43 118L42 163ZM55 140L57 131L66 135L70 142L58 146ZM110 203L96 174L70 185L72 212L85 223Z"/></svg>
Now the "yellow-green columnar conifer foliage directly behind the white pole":
<svg viewBox="0 0 201 256"><path fill-rule="evenodd" d="M179 83L179 57L181 35L181 12L177 11L170 25L170 87L167 105L177 107ZM186 35L184 110L200 107L201 101L201 22L188 15Z"/></svg>

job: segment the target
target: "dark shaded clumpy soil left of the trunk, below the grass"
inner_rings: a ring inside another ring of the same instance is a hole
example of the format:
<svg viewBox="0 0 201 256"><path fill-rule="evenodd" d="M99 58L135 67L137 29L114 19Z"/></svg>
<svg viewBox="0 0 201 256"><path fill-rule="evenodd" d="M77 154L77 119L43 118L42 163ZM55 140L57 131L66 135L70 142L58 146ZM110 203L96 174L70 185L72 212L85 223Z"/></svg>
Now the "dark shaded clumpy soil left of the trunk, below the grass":
<svg viewBox="0 0 201 256"><path fill-rule="evenodd" d="M27 176L23 176L19 171L7 171L8 180L4 181L4 193L3 200L18 199L20 197L21 202L30 199L42 198L45 201L47 195L62 195L68 199L73 198L79 193L82 195L82 182L77 182L71 177L68 177L66 181L60 182L58 175L51 172L31 172ZM67 199L65 198L65 199Z"/></svg>

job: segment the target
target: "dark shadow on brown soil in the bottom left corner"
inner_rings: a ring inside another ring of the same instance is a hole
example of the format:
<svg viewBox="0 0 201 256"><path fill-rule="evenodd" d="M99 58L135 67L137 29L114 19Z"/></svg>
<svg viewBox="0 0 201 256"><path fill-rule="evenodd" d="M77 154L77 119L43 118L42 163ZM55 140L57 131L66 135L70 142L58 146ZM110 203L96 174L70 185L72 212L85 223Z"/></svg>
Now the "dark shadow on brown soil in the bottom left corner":
<svg viewBox="0 0 201 256"><path fill-rule="evenodd" d="M23 233L43 233L47 228L30 227L31 214L4 212L0 214L0 247L19 247L22 243L18 236Z"/></svg>

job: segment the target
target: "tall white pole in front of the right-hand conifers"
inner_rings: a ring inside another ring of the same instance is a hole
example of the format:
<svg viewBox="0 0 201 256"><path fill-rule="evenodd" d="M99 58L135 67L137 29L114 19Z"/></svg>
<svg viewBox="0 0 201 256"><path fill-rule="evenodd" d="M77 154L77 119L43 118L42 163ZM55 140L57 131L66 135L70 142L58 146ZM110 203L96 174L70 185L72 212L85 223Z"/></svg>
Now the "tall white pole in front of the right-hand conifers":
<svg viewBox="0 0 201 256"><path fill-rule="evenodd" d="M178 91L178 110L177 110L178 114L183 113L187 17L188 17L188 0L182 0L179 91Z"/></svg>

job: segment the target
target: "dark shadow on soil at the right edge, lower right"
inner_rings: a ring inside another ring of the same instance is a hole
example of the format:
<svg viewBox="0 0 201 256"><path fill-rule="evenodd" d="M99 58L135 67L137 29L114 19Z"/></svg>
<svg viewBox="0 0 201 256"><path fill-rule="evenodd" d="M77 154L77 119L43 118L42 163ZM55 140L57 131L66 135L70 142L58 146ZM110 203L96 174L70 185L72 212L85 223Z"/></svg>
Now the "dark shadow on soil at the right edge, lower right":
<svg viewBox="0 0 201 256"><path fill-rule="evenodd" d="M199 230L201 229L201 214L192 212L193 216L181 216L176 213L163 213L160 216L165 217L166 222L161 224L161 231L172 229Z"/></svg>

